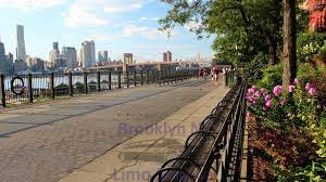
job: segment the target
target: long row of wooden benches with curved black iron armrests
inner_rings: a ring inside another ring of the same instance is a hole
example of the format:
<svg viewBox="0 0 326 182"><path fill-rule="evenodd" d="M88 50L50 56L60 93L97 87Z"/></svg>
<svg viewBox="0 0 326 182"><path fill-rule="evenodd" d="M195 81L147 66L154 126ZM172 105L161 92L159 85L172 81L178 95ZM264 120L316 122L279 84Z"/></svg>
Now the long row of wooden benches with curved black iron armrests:
<svg viewBox="0 0 326 182"><path fill-rule="evenodd" d="M239 181L246 88L238 79L200 130L189 135L180 156L163 164L150 182Z"/></svg>

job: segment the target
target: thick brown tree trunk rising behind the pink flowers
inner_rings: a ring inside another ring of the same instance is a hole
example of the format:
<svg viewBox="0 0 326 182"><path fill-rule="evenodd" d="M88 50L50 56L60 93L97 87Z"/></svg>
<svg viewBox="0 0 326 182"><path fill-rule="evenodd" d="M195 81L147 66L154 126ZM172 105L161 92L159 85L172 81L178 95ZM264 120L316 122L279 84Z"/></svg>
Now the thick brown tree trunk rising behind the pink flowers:
<svg viewBox="0 0 326 182"><path fill-rule="evenodd" d="M283 87L288 88L297 73L296 0L284 0L284 5Z"/></svg>

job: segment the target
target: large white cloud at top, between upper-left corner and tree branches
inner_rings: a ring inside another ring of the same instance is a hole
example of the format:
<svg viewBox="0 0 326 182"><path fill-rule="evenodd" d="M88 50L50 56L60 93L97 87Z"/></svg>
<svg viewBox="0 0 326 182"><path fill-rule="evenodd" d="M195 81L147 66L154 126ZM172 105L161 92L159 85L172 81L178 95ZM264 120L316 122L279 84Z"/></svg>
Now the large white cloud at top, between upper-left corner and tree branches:
<svg viewBox="0 0 326 182"><path fill-rule="evenodd" d="M68 27L103 26L113 16L140 10L153 0L76 0L65 16Z"/></svg>

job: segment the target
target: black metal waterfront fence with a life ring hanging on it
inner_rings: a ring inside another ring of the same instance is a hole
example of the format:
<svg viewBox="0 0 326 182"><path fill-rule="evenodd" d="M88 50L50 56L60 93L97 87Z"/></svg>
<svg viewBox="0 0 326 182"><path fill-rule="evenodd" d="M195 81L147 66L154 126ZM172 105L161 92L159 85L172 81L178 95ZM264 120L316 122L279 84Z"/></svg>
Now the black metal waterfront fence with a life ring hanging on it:
<svg viewBox="0 0 326 182"><path fill-rule="evenodd" d="M33 103L92 92L167 83L197 76L197 69L153 72L85 72L0 75L0 104Z"/></svg>

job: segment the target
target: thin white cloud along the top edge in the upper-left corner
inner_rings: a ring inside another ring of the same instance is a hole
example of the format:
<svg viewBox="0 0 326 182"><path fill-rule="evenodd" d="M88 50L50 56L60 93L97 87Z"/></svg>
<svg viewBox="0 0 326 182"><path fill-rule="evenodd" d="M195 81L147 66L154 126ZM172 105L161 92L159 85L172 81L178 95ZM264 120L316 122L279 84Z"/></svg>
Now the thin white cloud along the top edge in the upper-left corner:
<svg viewBox="0 0 326 182"><path fill-rule="evenodd" d="M1 8L13 8L23 11L42 10L64 3L66 0L0 0Z"/></svg>

